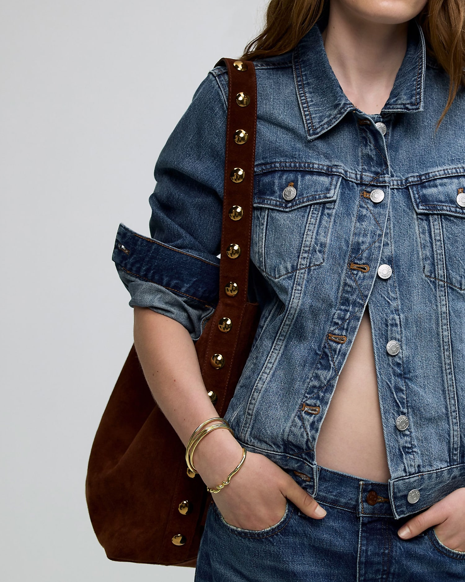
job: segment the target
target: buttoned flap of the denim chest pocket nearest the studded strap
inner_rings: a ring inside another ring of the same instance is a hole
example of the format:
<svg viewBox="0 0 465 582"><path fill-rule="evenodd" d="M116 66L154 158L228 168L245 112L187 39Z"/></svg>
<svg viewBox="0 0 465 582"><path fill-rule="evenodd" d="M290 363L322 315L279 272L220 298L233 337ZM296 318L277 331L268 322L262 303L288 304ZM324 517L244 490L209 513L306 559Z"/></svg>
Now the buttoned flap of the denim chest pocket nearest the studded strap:
<svg viewBox="0 0 465 582"><path fill-rule="evenodd" d="M339 176L323 172L301 170L273 170L256 174L253 205L289 211L308 204L331 202L336 200L339 179ZM288 186L296 191L292 200L286 200L282 195Z"/></svg>

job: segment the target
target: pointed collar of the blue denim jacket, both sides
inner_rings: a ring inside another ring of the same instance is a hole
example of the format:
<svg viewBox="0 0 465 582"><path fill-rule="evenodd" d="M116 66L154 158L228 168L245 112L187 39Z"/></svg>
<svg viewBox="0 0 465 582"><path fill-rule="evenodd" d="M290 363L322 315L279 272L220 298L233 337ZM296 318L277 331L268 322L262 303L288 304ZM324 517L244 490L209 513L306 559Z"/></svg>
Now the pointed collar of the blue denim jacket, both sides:
<svg viewBox="0 0 465 582"><path fill-rule="evenodd" d="M299 95L308 139L314 139L336 125L349 111L357 108L342 91L328 61L319 20L299 41L292 56L296 91ZM383 112L423 111L425 40L416 19L410 20L407 50L396 75Z"/></svg>

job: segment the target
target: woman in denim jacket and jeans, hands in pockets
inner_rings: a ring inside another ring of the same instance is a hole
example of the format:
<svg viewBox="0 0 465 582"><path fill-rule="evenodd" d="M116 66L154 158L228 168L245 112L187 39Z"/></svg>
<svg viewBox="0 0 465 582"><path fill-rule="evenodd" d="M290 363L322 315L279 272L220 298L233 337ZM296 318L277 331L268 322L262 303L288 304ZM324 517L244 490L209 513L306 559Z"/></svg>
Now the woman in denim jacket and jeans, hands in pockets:
<svg viewBox="0 0 465 582"><path fill-rule="evenodd" d="M213 495L197 582L465 579L464 24L459 0L272 0L242 57L262 314L234 436L195 449L210 488L248 451ZM217 67L150 199L153 239L213 264L226 99ZM175 264L147 281L116 262L146 378L187 445L216 416L192 342L212 308L173 290Z"/></svg>

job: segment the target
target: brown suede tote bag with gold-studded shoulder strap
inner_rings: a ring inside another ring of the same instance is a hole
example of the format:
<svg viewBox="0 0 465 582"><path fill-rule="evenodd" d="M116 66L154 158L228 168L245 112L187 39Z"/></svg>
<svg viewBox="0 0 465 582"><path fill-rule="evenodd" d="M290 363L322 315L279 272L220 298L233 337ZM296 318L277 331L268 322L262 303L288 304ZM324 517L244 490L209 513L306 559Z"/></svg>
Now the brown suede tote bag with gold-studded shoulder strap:
<svg viewBox="0 0 465 582"><path fill-rule="evenodd" d="M227 66L229 83L220 299L195 349L206 389L223 417L248 358L259 310L247 301L255 68L251 61L220 63ZM245 142L235 137L238 129L248 134ZM212 496L199 475L188 473L184 445L153 399L134 345L95 435L85 495L92 527L110 560L195 566Z"/></svg>

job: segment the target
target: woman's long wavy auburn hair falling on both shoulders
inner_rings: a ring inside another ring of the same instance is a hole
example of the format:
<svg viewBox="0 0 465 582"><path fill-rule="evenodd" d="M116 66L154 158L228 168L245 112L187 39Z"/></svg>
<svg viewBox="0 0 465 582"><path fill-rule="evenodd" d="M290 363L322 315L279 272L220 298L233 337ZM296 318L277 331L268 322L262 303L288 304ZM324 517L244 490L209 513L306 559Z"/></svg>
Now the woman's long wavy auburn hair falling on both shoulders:
<svg viewBox="0 0 465 582"><path fill-rule="evenodd" d="M246 45L243 60L282 55L291 51L320 16L327 17L329 0L271 0L266 25ZM449 95L438 120L438 129L460 86L465 86L465 2L428 0L416 16L423 30L427 54L449 76Z"/></svg>

